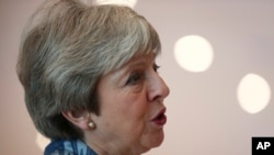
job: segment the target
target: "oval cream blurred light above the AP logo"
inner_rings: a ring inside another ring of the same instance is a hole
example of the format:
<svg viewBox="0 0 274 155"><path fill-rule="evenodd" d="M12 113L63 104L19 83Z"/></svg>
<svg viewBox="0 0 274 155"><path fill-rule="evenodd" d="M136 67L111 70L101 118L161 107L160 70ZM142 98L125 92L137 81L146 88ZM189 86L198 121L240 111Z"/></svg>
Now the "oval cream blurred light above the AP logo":
<svg viewBox="0 0 274 155"><path fill-rule="evenodd" d="M271 88L267 81L255 74L246 75L237 92L240 106L252 114L262 111L271 99Z"/></svg>

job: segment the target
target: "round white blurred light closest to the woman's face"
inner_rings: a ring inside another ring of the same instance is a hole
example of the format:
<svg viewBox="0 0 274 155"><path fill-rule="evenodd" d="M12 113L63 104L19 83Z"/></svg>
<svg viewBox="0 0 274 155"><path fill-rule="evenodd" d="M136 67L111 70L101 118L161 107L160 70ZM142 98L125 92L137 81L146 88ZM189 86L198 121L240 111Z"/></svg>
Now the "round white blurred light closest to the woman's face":
<svg viewBox="0 0 274 155"><path fill-rule="evenodd" d="M201 73L209 68L214 52L210 43L198 35L187 35L178 40L174 46L176 63L187 71Z"/></svg>

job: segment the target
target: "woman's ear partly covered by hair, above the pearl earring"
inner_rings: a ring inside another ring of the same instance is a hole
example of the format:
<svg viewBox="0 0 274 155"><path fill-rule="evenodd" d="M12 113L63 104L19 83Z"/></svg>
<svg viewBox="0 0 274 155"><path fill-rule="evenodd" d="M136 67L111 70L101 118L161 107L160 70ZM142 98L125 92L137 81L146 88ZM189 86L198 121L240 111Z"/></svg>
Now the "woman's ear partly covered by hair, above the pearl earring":
<svg viewBox="0 0 274 155"><path fill-rule="evenodd" d="M65 111L61 114L81 130L89 130L89 122L91 120L88 111Z"/></svg>

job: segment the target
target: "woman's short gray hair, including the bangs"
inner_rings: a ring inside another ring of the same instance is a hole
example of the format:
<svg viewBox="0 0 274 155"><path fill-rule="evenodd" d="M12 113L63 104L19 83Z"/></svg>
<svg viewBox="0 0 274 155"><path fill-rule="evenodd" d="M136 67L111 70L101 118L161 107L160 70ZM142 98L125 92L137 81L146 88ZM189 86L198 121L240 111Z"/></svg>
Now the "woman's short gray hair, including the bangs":
<svg viewBox="0 0 274 155"><path fill-rule="evenodd" d="M22 35L18 75L36 129L50 139L82 139L61 112L100 114L96 82L136 55L160 52L155 29L133 9L45 2Z"/></svg>

